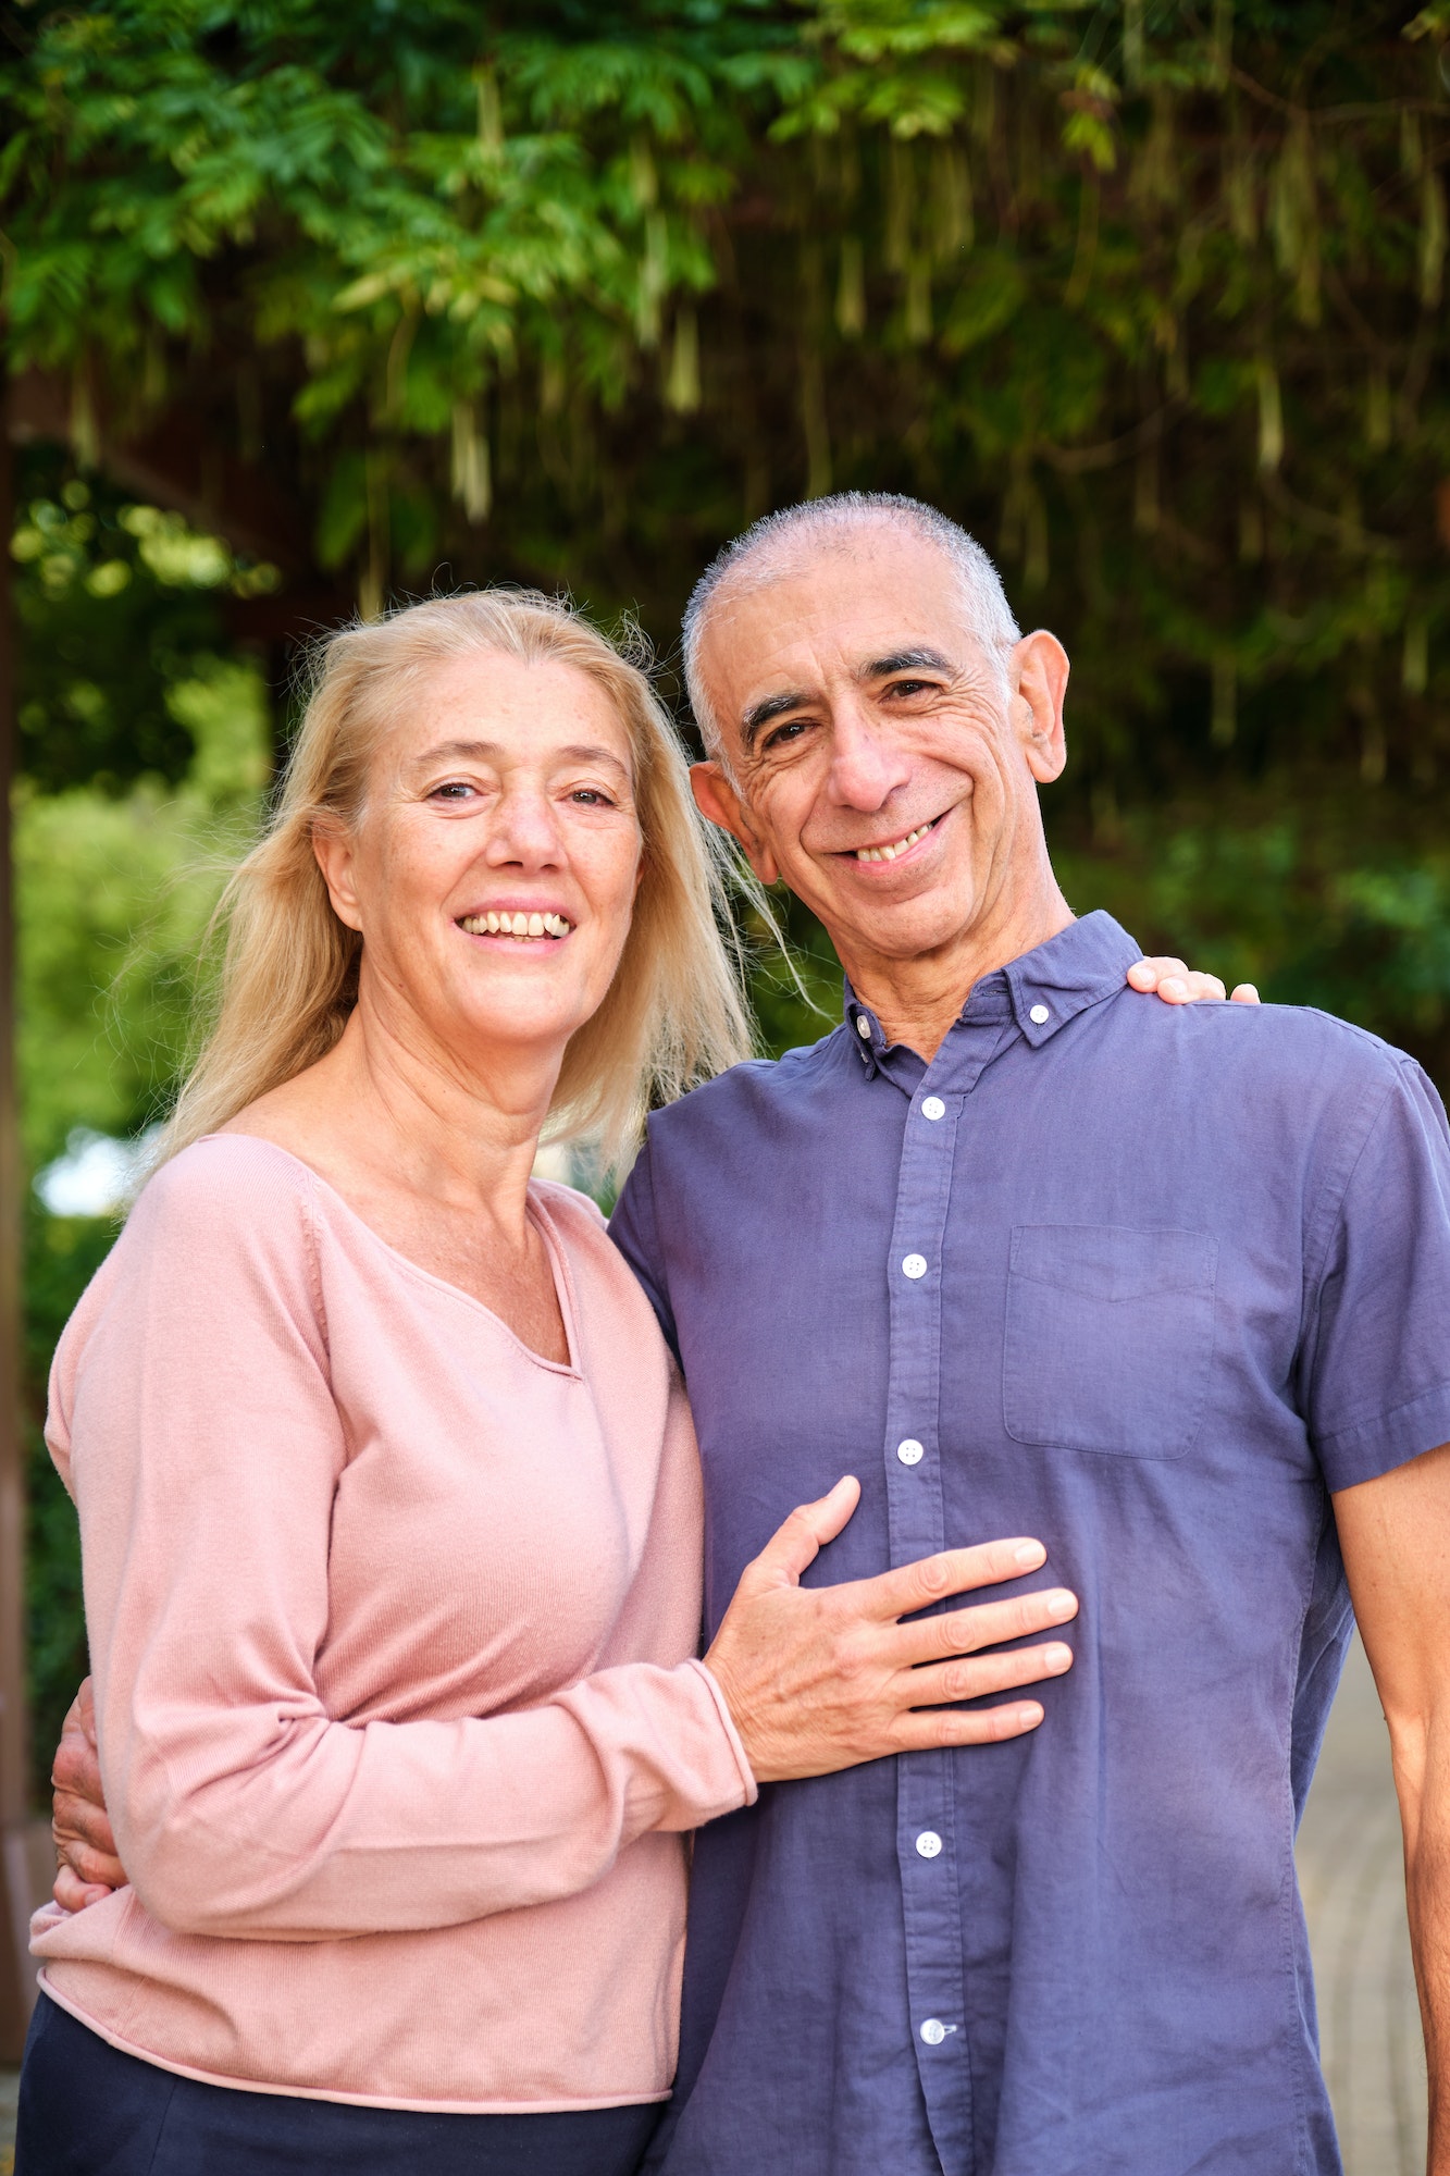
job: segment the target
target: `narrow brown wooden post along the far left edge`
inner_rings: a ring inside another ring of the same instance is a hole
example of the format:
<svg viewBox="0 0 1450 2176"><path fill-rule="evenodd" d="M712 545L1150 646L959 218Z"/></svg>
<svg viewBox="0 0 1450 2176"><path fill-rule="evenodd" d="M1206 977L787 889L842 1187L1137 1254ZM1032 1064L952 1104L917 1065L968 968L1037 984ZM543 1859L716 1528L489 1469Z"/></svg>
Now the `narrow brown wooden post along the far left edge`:
<svg viewBox="0 0 1450 2176"><path fill-rule="evenodd" d="M15 1088L15 897L11 783L15 777L15 622L11 535L13 450L0 363L0 2061L17 2063L35 1978L26 1832L24 1436L20 1421L20 1108Z"/></svg>

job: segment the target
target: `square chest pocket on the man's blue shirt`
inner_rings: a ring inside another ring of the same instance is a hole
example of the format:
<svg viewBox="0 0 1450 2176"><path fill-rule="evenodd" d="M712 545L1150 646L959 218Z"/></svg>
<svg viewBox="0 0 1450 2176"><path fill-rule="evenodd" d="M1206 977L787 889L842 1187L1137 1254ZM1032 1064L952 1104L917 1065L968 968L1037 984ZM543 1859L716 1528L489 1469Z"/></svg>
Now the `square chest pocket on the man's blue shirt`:
<svg viewBox="0 0 1450 2176"><path fill-rule="evenodd" d="M1213 1362L1208 1232L1017 1225L1002 1419L1015 1443L1182 1458Z"/></svg>

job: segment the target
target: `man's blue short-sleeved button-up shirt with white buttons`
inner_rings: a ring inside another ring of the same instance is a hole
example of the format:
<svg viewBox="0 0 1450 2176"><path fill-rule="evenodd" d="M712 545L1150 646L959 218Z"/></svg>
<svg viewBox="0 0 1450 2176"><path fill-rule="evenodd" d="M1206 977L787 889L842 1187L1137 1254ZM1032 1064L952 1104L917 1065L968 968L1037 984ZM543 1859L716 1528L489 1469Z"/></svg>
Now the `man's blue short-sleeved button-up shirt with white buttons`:
<svg viewBox="0 0 1450 2176"><path fill-rule="evenodd" d="M1400 1053L1169 1007L1093 914L932 1064L847 1018L651 1118L614 1234L690 1388L708 1632L1036 1534L1043 1726L697 1839L668 2176L1328 2176L1293 1830L1350 1634L1330 1488L1450 1438L1450 1145ZM1002 1588L1012 1593L1015 1588Z"/></svg>

